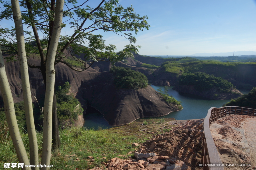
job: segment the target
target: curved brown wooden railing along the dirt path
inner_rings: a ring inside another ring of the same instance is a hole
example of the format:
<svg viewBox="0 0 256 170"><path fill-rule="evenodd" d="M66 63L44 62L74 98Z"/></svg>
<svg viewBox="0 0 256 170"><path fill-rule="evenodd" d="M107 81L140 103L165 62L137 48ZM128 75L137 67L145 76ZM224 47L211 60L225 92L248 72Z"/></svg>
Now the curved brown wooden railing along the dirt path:
<svg viewBox="0 0 256 170"><path fill-rule="evenodd" d="M210 108L208 110L207 116L204 120L204 138L203 138L203 148L202 148L202 164L221 164L221 160L218 151L215 147L213 138L211 136L210 124L216 121L218 118L231 115L231 114L242 114L249 116L256 116L256 109L249 109L237 106L227 106L221 108ZM223 166L204 166L204 170L223 170Z"/></svg>

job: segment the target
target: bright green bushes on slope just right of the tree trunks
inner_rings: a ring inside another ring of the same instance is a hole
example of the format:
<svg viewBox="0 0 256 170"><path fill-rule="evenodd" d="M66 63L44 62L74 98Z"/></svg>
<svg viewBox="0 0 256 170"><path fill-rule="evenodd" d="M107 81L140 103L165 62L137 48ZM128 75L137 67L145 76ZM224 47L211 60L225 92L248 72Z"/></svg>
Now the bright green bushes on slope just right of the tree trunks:
<svg viewBox="0 0 256 170"><path fill-rule="evenodd" d="M59 121L67 119L78 119L78 115L83 113L83 108L78 99L68 95L70 84L66 82L56 90L57 115Z"/></svg>

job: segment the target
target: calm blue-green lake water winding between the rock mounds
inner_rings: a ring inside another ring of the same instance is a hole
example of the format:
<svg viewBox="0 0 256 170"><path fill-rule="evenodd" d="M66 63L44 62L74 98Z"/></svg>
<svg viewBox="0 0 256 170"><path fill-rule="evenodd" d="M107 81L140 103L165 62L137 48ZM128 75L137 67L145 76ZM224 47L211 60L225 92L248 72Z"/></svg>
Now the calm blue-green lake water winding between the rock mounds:
<svg viewBox="0 0 256 170"><path fill-rule="evenodd" d="M155 90L162 88L164 86L154 86L151 85ZM168 87L168 94L172 95L176 100L181 101L183 109L180 111L171 112L168 115L162 117L173 117L176 120L186 120L186 119L202 119L207 115L208 109L211 107L222 107L223 104L229 102L230 100L211 100L204 97L179 93L172 89L173 87ZM239 89L243 94L247 94L249 90ZM108 122L103 118L102 114L90 113L84 115L84 127L98 129L111 128ZM142 118L143 119L143 118Z"/></svg>

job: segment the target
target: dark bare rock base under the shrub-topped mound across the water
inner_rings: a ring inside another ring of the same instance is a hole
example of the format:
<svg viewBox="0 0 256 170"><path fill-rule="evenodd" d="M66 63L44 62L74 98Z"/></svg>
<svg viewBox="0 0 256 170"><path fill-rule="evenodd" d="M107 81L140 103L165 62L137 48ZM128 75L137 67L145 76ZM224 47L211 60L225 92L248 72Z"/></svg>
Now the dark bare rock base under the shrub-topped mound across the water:
<svg viewBox="0 0 256 170"><path fill-rule="evenodd" d="M243 95L239 90L235 88L231 89L231 93L221 93L217 88L199 91L195 89L194 86L187 86L187 85L182 85L182 86L178 85L173 87L173 89L178 92L189 93L189 94L202 96L202 97L215 99L215 100L234 99L234 98L241 97Z"/></svg>

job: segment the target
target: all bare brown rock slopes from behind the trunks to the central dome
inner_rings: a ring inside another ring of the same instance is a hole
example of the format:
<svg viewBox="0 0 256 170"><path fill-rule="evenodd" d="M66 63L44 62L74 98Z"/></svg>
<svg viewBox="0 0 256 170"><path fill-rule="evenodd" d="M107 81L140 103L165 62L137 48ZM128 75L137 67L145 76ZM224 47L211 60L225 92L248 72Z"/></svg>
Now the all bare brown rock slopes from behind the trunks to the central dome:
<svg viewBox="0 0 256 170"><path fill-rule="evenodd" d="M39 60L28 61L40 66ZM19 62L7 62L5 66L14 102L19 102L23 100ZM110 125L114 126L133 122L140 117L163 116L178 110L176 106L167 104L163 97L150 86L139 90L116 89L112 73L97 71L109 70L109 67L109 64L105 64L95 66L96 70L89 68L86 71L77 72L65 64L58 63L55 66L56 87L69 82L70 93L73 93L81 102L84 110L87 104L90 104L104 115ZM45 86L40 70L29 68L29 76L33 102L43 100Z"/></svg>

